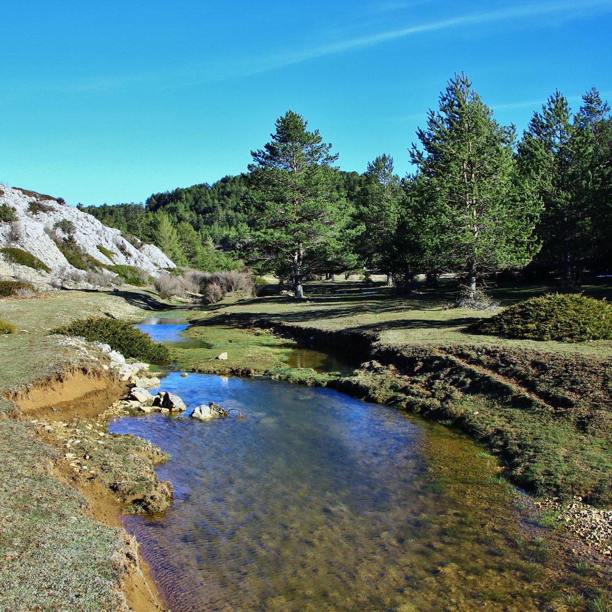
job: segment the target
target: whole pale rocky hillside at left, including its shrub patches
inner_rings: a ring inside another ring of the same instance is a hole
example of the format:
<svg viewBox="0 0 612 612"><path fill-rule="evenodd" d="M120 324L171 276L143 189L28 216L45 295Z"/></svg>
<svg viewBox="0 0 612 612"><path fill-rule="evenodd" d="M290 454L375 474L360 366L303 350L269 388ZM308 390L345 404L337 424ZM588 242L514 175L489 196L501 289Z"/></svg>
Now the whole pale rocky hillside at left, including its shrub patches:
<svg viewBox="0 0 612 612"><path fill-rule="evenodd" d="M136 244L61 198L0 187L0 278L48 288L82 282L88 272L116 275L120 266L143 276L175 267L154 245Z"/></svg>

